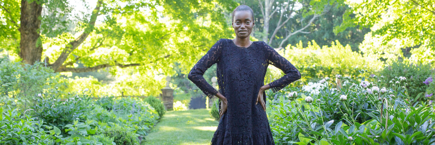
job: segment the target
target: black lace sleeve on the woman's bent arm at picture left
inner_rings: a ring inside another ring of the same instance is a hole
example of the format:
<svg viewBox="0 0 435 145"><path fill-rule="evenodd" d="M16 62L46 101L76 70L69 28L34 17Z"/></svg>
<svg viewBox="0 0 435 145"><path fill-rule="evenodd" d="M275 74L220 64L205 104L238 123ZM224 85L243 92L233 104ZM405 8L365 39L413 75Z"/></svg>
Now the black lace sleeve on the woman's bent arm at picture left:
<svg viewBox="0 0 435 145"><path fill-rule="evenodd" d="M215 94L218 93L216 89L213 88L207 81L204 79L204 72L207 71L211 65L216 64L221 59L221 50L224 46L224 39L218 40L213 47L205 54L192 68L187 75L187 78L191 80L198 88L201 89L207 97L212 98Z"/></svg>

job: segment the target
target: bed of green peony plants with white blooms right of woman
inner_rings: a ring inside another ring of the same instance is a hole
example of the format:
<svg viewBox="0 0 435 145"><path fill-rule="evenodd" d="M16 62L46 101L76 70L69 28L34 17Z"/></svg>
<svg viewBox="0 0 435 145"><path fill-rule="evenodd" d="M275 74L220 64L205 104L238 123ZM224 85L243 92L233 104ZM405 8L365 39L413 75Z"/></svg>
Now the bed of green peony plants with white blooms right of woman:
<svg viewBox="0 0 435 145"><path fill-rule="evenodd" d="M408 78L337 75L341 87L325 78L311 90L286 88L269 103L278 145L432 145L434 106L408 95ZM394 83L390 83L390 81ZM317 85L317 86L316 86ZM282 95L283 94L283 95ZM420 93L418 97L422 97Z"/></svg>

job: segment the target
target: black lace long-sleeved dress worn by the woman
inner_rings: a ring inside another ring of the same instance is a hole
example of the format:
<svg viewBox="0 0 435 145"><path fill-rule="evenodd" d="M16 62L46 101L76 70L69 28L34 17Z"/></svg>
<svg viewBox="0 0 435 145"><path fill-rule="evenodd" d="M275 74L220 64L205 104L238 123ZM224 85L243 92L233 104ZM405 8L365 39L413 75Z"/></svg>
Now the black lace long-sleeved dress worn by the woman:
<svg viewBox="0 0 435 145"><path fill-rule="evenodd" d="M217 64L219 92L227 98L228 108L219 121L211 145L274 145L266 112L260 104L255 105L258 91L264 85L269 64L285 73L269 84L274 92L301 78L299 71L263 41L238 47L230 39L221 39L188 75L210 98L218 91L207 83L203 74L213 64ZM264 101L265 98L264 94Z"/></svg>

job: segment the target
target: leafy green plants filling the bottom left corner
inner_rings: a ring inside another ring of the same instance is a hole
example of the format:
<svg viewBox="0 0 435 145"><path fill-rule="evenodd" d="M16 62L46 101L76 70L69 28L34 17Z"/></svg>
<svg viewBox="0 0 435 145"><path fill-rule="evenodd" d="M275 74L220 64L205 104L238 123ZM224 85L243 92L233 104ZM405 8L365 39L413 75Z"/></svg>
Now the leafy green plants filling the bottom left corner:
<svg viewBox="0 0 435 145"><path fill-rule="evenodd" d="M42 128L44 121L21 115L17 108L0 108L1 145L51 145L53 142Z"/></svg>

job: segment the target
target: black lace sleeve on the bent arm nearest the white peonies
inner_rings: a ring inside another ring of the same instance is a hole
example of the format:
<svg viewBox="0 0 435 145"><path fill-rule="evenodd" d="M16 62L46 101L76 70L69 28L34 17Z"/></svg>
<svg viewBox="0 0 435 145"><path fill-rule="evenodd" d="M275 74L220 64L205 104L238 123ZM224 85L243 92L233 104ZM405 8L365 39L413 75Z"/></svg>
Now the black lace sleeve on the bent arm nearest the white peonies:
<svg viewBox="0 0 435 145"><path fill-rule="evenodd" d="M278 54L272 47L264 43L266 47L266 57L269 64L281 69L285 75L278 80L269 83L273 92L277 92L288 84L301 79L301 73L287 59Z"/></svg>

